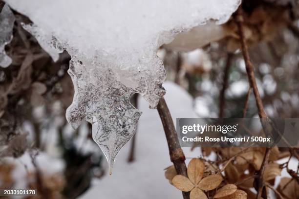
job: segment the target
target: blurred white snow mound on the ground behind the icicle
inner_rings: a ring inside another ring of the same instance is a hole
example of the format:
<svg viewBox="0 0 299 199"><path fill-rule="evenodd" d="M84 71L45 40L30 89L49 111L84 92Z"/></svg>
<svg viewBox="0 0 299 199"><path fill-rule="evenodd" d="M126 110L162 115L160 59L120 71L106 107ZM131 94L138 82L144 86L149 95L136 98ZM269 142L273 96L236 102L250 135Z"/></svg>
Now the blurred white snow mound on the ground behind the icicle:
<svg viewBox="0 0 299 199"><path fill-rule="evenodd" d="M192 97L182 88L165 82L165 100L172 119L196 117ZM157 110L149 109L148 102L139 98L138 109L143 112L137 127L136 160L128 163L130 142L120 151L112 176L94 179L92 187L82 199L181 199L181 192L164 177L164 168L172 163L162 123ZM175 122L175 121L174 121ZM184 148L190 157L190 148ZM199 156L199 150L195 150ZM193 155L195 157L195 154Z"/></svg>

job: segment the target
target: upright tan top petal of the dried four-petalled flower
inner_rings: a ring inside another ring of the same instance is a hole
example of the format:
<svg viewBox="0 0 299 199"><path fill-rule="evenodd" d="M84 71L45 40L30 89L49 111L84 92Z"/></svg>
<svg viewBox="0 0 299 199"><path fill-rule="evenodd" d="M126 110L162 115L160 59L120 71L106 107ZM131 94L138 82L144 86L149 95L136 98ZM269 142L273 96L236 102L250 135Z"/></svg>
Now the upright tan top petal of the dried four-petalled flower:
<svg viewBox="0 0 299 199"><path fill-rule="evenodd" d="M197 158L193 158L188 164L188 178L192 181L193 184L198 184L202 179L205 171L205 164L203 161Z"/></svg>

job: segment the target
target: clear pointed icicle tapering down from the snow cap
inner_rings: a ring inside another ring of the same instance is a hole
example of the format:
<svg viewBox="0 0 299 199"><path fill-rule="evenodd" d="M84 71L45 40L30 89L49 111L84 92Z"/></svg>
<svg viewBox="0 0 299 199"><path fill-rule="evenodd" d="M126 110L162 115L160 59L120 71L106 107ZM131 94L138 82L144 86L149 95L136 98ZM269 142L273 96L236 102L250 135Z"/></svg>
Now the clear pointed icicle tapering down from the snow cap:
<svg viewBox="0 0 299 199"><path fill-rule="evenodd" d="M70 61L68 73L74 82L75 96L66 116L74 128L82 119L92 124L92 138L105 154L112 172L115 157L134 135L142 112L129 102L135 91L121 83L112 70L85 63Z"/></svg>

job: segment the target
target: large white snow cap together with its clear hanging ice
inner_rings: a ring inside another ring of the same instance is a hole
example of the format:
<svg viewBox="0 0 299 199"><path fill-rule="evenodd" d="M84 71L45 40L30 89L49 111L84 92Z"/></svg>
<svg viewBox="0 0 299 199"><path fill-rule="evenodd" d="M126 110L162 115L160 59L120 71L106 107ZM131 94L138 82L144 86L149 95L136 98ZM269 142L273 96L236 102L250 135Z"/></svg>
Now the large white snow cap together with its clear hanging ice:
<svg viewBox="0 0 299 199"><path fill-rule="evenodd" d="M5 0L27 15L25 28L55 59L66 49L75 87L66 118L92 123L93 139L110 167L133 136L141 112L129 102L140 93L155 108L165 91L156 51L181 31L207 20L228 20L240 0ZM59 47L58 47L59 46ZM58 51L53 51L58 48ZM56 54L56 55L55 55Z"/></svg>

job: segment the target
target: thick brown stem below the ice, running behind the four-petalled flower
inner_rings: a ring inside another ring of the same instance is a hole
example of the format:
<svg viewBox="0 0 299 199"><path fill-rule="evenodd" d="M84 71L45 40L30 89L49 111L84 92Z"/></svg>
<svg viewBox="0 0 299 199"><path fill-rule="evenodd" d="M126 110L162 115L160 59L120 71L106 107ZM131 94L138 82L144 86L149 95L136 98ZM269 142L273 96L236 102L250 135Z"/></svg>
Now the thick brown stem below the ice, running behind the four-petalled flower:
<svg viewBox="0 0 299 199"><path fill-rule="evenodd" d="M171 114L163 97L159 101L157 110L163 124L170 158L175 167L176 173L187 177L187 167L185 164L186 158L180 146ZM183 198L189 199L189 192L183 192Z"/></svg>

